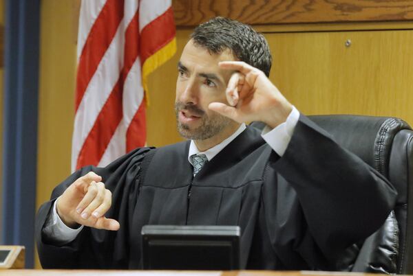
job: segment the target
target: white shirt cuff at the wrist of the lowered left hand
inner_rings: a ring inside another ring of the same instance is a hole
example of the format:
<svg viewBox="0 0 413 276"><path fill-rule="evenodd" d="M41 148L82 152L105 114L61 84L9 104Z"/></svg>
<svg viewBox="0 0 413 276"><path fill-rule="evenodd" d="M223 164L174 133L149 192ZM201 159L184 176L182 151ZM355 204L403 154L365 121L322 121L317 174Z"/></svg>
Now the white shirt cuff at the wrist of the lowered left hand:
<svg viewBox="0 0 413 276"><path fill-rule="evenodd" d="M65 222L61 220L59 214L57 214L56 203L59 198L54 201L53 210L46 219L45 227L43 228L43 233L47 235L48 238L58 242L59 244L67 244L74 240L78 233L83 229L83 225L78 229L72 229L65 225Z"/></svg>

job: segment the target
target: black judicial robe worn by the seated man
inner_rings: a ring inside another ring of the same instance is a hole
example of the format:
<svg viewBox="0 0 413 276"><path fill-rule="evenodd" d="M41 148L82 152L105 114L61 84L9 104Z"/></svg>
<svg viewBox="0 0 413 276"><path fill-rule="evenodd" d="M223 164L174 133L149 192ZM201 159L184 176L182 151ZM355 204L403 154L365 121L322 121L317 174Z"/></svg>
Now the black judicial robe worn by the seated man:
<svg viewBox="0 0 413 276"><path fill-rule="evenodd" d="M241 266L334 269L350 244L378 229L396 192L383 176L300 116L283 157L247 129L195 176L189 141L156 149L149 168L139 148L106 168L82 168L57 186L36 218L44 268L140 268L143 225L239 225ZM107 217L118 231L85 227L69 244L41 233L68 185L89 171L113 194Z"/></svg>

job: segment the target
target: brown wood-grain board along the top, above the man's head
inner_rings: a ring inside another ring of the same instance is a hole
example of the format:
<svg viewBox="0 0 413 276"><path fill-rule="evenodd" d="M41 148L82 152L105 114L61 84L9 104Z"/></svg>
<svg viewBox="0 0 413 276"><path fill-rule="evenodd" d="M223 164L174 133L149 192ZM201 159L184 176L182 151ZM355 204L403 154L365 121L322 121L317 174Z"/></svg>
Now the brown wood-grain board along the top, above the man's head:
<svg viewBox="0 0 413 276"><path fill-rule="evenodd" d="M213 16L251 25L413 19L410 0L174 0L178 26L195 26Z"/></svg>

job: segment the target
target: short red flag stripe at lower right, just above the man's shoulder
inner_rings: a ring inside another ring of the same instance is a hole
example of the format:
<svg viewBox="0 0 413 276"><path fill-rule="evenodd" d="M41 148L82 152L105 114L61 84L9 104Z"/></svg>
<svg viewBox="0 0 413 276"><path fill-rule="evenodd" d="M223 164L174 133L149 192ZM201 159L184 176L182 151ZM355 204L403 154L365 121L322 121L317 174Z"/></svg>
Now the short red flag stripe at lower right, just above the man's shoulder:
<svg viewBox="0 0 413 276"><path fill-rule="evenodd" d="M145 146L146 142L146 104L145 99L140 103L126 132L126 152Z"/></svg>

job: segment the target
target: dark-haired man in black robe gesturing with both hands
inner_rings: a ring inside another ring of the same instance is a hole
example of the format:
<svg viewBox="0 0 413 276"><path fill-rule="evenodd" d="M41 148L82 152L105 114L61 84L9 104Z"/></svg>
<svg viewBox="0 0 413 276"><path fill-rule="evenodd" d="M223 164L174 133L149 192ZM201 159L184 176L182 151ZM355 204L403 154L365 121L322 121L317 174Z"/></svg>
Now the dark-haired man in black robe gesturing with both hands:
<svg viewBox="0 0 413 276"><path fill-rule="evenodd" d="M195 28L176 84L189 141L136 149L56 187L36 221L43 267L140 268L143 225L239 225L242 268L334 269L396 192L300 115L270 69L251 27L218 17Z"/></svg>

